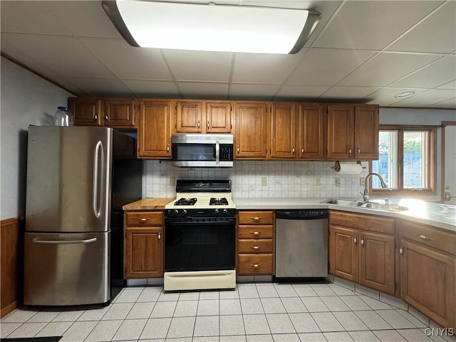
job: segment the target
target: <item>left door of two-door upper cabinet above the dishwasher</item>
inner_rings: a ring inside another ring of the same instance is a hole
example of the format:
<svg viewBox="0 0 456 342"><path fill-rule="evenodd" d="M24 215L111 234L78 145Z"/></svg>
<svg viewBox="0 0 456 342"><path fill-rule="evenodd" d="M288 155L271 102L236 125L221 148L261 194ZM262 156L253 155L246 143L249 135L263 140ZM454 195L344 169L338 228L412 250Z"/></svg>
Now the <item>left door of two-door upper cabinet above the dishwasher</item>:
<svg viewBox="0 0 456 342"><path fill-rule="evenodd" d="M271 158L296 157L296 105L273 103L271 105Z"/></svg>

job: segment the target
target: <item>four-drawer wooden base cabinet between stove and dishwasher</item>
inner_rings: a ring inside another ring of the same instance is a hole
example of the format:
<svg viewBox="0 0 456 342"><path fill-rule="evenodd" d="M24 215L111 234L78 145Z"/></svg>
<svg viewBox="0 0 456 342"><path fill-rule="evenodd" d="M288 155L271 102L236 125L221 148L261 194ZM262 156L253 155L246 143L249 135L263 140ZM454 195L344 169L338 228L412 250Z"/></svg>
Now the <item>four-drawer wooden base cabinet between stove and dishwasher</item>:
<svg viewBox="0 0 456 342"><path fill-rule="evenodd" d="M274 212L237 213L237 274L274 274Z"/></svg>

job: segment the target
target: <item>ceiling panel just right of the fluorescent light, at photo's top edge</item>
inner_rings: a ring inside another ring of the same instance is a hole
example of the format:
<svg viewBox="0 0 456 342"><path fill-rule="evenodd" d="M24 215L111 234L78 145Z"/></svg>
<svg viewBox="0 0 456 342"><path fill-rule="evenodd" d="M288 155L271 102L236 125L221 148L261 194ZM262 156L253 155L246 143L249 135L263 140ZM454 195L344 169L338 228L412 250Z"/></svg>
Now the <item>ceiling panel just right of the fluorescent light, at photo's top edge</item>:
<svg viewBox="0 0 456 342"><path fill-rule="evenodd" d="M346 1L315 47L385 48L442 1Z"/></svg>

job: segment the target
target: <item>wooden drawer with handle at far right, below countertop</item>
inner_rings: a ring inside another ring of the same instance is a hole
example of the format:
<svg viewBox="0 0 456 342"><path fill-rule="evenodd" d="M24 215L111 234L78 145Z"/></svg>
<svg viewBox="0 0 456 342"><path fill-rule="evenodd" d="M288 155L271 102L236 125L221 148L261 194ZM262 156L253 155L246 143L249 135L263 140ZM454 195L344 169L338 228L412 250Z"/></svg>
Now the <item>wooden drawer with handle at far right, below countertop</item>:
<svg viewBox="0 0 456 342"><path fill-rule="evenodd" d="M414 222L400 222L400 236L442 252L456 254L456 234L442 232Z"/></svg>

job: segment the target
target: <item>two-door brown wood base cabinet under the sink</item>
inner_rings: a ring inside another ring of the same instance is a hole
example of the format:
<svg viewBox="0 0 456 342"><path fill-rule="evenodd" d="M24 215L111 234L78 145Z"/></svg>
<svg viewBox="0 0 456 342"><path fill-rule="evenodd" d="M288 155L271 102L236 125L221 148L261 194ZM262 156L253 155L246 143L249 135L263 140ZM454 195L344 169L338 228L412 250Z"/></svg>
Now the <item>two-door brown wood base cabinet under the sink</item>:
<svg viewBox="0 0 456 342"><path fill-rule="evenodd" d="M330 273L395 294L394 226L393 219L331 211Z"/></svg>

